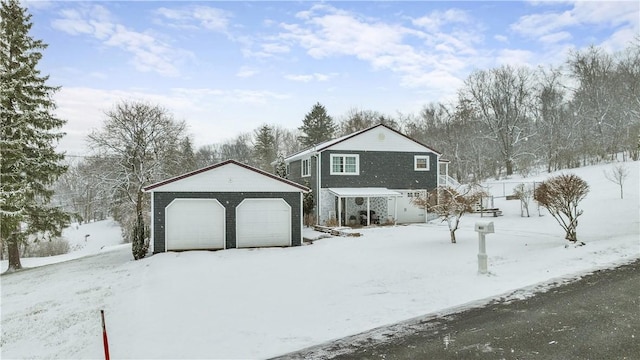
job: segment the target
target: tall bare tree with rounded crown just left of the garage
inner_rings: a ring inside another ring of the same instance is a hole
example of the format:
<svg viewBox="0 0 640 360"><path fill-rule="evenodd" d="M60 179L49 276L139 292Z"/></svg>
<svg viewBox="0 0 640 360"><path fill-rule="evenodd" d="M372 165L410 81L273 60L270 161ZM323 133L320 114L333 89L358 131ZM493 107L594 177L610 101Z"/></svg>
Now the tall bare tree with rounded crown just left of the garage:
<svg viewBox="0 0 640 360"><path fill-rule="evenodd" d="M145 102L123 101L106 112L100 131L89 135L89 144L105 159L103 181L112 190L114 212L126 240L132 241L134 259L146 256L145 209L149 202L143 188L165 177L180 162L180 142L185 124L173 119L167 110Z"/></svg>

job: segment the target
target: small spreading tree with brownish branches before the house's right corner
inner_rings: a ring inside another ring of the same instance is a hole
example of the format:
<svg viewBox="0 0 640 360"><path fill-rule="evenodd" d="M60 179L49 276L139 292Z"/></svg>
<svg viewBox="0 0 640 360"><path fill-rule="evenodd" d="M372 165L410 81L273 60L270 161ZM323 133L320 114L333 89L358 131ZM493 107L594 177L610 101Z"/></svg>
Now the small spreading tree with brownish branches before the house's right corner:
<svg viewBox="0 0 640 360"><path fill-rule="evenodd" d="M449 225L451 243L456 243L456 230L460 225L460 218L465 213L473 211L473 205L487 194L478 186L468 185L462 192L449 186L441 186L432 190L426 197L413 198L412 202L418 207L424 207L435 213ZM434 204L434 199L437 198Z"/></svg>

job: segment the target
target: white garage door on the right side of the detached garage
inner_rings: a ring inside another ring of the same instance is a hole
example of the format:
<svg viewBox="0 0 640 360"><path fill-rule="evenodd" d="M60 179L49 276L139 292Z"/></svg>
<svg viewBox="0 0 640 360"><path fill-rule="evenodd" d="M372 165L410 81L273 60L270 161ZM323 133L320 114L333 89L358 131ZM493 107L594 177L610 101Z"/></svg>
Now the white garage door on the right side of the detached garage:
<svg viewBox="0 0 640 360"><path fill-rule="evenodd" d="M236 208L237 246L290 246L291 207L283 199L245 199Z"/></svg>

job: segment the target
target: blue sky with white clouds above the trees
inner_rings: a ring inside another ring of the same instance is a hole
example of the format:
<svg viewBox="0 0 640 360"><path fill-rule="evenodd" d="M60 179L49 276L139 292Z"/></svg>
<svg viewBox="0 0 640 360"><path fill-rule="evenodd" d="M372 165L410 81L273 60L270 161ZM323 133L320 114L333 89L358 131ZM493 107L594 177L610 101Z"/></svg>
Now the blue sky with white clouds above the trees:
<svg viewBox="0 0 640 360"><path fill-rule="evenodd" d="M60 149L120 100L146 100L189 125L196 146L263 123L301 125L313 104L415 113L455 96L474 69L558 65L639 33L630 2L26 1L40 70L68 120Z"/></svg>

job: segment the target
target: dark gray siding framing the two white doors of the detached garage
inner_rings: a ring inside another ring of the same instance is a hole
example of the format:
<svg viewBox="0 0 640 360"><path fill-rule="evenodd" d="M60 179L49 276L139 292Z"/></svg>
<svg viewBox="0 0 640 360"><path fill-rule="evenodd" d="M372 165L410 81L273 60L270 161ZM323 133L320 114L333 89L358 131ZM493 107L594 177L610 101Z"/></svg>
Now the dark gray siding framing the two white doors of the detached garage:
<svg viewBox="0 0 640 360"><path fill-rule="evenodd" d="M226 222L226 248L236 247L236 207L244 199L248 198L277 198L291 206L291 245L302 244L300 201L302 194L299 192L154 192L154 223L153 223L153 252L160 253L165 249L165 209L174 199L217 199L225 207Z"/></svg>

